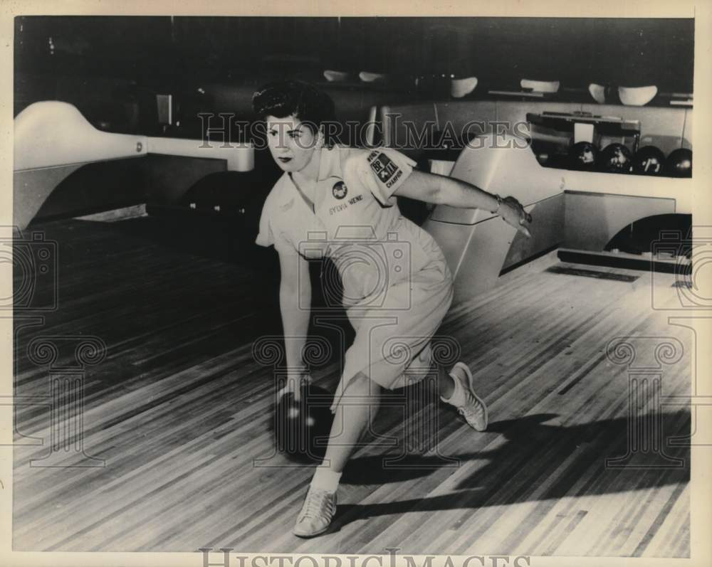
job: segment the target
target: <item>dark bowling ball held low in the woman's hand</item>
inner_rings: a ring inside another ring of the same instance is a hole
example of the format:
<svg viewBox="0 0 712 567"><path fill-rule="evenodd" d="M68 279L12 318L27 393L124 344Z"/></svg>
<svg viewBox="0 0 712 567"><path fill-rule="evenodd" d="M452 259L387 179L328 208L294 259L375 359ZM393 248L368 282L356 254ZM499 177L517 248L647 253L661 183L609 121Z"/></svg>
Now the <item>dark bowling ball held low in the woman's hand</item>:
<svg viewBox="0 0 712 567"><path fill-rule="evenodd" d="M319 386L305 384L301 399L284 394L274 413L274 435L278 450L293 460L319 462L326 452L334 416L333 395Z"/></svg>

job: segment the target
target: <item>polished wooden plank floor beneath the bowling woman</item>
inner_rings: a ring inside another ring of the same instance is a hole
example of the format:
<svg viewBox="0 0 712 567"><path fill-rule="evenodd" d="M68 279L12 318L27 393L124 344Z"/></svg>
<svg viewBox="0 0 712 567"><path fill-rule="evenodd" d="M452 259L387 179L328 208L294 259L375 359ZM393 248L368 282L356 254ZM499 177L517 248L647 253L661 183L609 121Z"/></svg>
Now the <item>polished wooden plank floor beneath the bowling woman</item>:
<svg viewBox="0 0 712 567"><path fill-rule="evenodd" d="M629 415L609 340L675 337L686 354L665 367L662 393L689 393L691 336L651 309L651 286L673 304L674 276L550 255L454 307L440 334L461 345L488 431L467 428L428 384L394 393L409 410L382 410L377 438L345 472L333 530L305 541L290 528L313 469L273 453L273 378L251 352L280 330L273 267L172 241L156 218L41 228L58 242L60 302L42 326L16 322L16 393L48 392L47 368L26 356L31 339L100 337L83 446L105 466L30 466L48 455L48 410L19 408L17 440L45 445L14 453L16 549L689 555L686 450L666 449L681 468L604 466L625 454ZM333 389L337 364L314 378ZM645 398L641 411L653 410ZM684 408L666 406L663 419L665 435L689 433ZM411 466L384 468L405 442Z"/></svg>

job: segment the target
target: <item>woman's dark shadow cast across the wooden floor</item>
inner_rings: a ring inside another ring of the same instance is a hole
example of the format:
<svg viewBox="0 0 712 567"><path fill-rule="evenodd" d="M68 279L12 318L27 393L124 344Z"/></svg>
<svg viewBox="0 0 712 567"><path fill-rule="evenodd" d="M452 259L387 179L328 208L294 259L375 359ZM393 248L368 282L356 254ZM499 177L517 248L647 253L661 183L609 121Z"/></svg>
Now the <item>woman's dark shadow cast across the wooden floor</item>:
<svg viewBox="0 0 712 567"><path fill-rule="evenodd" d="M506 443L496 449L448 455L409 455L408 467L384 466L389 455L353 459L345 471L345 484L384 484L426 477L443 467L472 460L487 460L461 479L457 492L436 497L414 497L383 504L346 504L339 507L333 531L362 518L405 512L471 509L532 500L582 497L647 489L689 482L689 448L669 446L672 438L690 432L689 413L661 415L662 444L639 438L638 450L629 450L627 418L600 420L582 425L547 425L555 414L491 423L488 433L500 433ZM654 423L654 414L640 415L635 424ZM649 443L645 443L645 442ZM632 447L634 449L634 447ZM643 450L645 449L645 450ZM394 457L397 455L390 455ZM545 489L539 487L549 479Z"/></svg>

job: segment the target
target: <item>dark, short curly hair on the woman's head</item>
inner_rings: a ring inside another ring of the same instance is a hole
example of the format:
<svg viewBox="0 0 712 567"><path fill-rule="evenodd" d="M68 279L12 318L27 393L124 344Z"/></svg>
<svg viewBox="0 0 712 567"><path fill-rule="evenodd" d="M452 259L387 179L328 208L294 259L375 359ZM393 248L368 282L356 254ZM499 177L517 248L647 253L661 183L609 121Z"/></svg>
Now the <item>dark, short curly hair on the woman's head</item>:
<svg viewBox="0 0 712 567"><path fill-rule="evenodd" d="M252 95L252 108L262 119L295 115L314 133L324 122L335 120L331 97L314 85L295 79L273 81L258 89Z"/></svg>

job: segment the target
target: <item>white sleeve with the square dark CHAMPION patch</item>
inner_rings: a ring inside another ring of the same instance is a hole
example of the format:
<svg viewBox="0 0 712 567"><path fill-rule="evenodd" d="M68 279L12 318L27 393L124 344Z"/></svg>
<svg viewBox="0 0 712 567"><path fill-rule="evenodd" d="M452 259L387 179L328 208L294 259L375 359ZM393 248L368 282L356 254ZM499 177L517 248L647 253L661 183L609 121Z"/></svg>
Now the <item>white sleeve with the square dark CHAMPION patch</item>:
<svg viewBox="0 0 712 567"><path fill-rule="evenodd" d="M377 148L349 158L347 172L356 175L379 203L389 207L396 203L393 194L408 179L415 164L394 149Z"/></svg>

